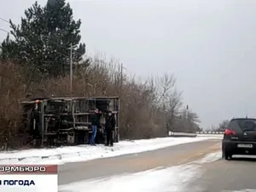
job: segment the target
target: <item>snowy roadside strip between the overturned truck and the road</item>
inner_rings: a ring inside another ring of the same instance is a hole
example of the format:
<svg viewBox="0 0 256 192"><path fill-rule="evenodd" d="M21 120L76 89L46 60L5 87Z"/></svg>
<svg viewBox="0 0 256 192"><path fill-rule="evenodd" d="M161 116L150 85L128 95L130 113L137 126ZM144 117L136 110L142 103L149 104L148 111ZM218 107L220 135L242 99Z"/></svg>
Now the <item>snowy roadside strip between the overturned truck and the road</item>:
<svg viewBox="0 0 256 192"><path fill-rule="evenodd" d="M158 150L172 145L187 144L207 139L209 138L153 138L121 141L118 144L114 144L113 148L105 147L103 145L79 145L47 150L21 150L9 153L0 153L0 164L63 164L73 161L89 161L97 158L133 154L148 150Z"/></svg>

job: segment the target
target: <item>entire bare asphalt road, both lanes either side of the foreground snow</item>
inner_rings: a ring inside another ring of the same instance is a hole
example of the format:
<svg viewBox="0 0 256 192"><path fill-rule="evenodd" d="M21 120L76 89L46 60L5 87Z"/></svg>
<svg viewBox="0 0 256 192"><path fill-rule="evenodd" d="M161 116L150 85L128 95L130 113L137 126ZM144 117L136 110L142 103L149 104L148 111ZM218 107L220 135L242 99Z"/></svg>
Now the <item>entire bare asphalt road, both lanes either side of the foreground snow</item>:
<svg viewBox="0 0 256 192"><path fill-rule="evenodd" d="M155 167L193 164L205 155L219 151L220 146L219 139L211 139L134 155L68 163L59 167L59 184L125 172L142 172ZM256 192L256 158L236 157L231 161L219 159L204 163L200 166L200 175L188 184L187 191L180 192L246 192L245 189L254 189L248 191Z"/></svg>

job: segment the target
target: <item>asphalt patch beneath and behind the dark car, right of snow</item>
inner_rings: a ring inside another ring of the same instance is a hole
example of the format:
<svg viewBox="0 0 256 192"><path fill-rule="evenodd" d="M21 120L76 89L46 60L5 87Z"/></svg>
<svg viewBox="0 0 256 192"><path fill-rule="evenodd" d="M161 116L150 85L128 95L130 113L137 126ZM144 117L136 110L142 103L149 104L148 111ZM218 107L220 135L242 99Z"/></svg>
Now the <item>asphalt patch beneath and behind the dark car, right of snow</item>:
<svg viewBox="0 0 256 192"><path fill-rule="evenodd" d="M191 192L253 191L256 192L256 158L235 156L230 161L203 164L201 178L190 184ZM245 190L254 189L254 190Z"/></svg>

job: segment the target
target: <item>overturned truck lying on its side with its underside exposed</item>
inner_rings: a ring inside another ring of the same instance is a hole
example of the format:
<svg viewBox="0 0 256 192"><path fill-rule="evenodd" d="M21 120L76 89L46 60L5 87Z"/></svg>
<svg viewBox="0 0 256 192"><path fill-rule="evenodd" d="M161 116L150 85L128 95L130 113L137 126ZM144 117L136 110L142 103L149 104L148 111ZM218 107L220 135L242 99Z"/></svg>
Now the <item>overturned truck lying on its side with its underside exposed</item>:
<svg viewBox="0 0 256 192"><path fill-rule="evenodd" d="M23 101L22 129L26 130L26 144L34 146L60 146L89 144L90 116L95 109L101 111L101 126L97 127L96 144L104 144L105 116L112 110L116 119L113 141L119 142L119 98L77 97L38 98Z"/></svg>

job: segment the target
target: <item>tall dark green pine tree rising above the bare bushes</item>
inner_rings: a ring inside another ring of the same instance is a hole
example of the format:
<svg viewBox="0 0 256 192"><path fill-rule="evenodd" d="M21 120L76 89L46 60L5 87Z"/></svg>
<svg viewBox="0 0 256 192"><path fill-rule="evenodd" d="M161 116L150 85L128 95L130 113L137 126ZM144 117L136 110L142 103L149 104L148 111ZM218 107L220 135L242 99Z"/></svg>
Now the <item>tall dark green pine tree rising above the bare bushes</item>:
<svg viewBox="0 0 256 192"><path fill-rule="evenodd" d="M73 61L79 62L85 53L80 25L81 20L73 20L73 9L65 0L48 0L44 7L36 2L26 9L20 25L10 20L15 39L3 41L2 58L18 59L46 76L65 75L71 46Z"/></svg>

